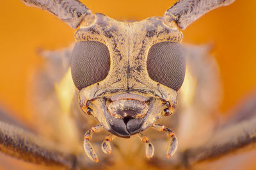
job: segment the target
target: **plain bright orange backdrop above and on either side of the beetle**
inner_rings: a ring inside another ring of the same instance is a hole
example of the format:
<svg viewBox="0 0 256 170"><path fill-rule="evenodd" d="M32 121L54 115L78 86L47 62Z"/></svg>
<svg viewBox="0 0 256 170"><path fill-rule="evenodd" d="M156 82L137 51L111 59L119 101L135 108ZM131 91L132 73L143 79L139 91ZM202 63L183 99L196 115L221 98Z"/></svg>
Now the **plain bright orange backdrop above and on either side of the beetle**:
<svg viewBox="0 0 256 170"><path fill-rule="evenodd" d="M82 1L93 13L116 20L143 20L163 16L175 1ZM20 1L1 1L0 105L20 121L31 121L26 93L31 72L42 59L38 49L60 49L74 42L74 29L53 15ZM237 0L218 8L183 31L185 43L212 43L220 66L223 100L220 111L256 89L256 1ZM15 115L14 115L15 114ZM256 167L255 167L256 168Z"/></svg>

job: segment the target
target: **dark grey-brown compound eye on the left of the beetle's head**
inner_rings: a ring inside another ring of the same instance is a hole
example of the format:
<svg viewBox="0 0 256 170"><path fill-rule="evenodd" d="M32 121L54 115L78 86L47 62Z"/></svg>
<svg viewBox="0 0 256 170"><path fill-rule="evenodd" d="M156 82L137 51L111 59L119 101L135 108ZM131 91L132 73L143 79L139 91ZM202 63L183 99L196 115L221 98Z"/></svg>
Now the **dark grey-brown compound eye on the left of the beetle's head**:
<svg viewBox="0 0 256 170"><path fill-rule="evenodd" d="M77 89L104 80L109 72L110 56L100 42L77 42L71 58L72 79Z"/></svg>

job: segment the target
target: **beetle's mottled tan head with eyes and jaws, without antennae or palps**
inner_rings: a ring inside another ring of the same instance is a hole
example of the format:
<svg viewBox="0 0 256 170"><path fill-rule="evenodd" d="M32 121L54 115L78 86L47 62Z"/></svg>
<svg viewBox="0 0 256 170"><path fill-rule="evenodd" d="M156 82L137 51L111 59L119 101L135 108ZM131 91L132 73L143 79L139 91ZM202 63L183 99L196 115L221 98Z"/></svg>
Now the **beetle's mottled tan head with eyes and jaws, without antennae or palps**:
<svg viewBox="0 0 256 170"><path fill-rule="evenodd" d="M175 110L186 63L177 27L160 17L129 23L97 14L75 37L71 71L81 108L111 134L130 137Z"/></svg>

